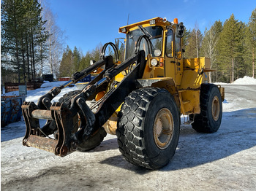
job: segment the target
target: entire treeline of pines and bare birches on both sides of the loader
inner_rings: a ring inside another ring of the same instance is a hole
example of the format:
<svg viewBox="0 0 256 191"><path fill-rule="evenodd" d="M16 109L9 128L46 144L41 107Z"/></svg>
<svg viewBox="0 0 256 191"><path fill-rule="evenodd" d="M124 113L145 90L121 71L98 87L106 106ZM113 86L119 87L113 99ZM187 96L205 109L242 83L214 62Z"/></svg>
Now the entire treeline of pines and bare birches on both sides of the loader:
<svg viewBox="0 0 256 191"><path fill-rule="evenodd" d="M98 61L102 44L83 55L77 47L63 47L63 32L56 26L53 13L37 0L1 1L1 82L24 82L54 74L70 77ZM200 25L200 23L199 23ZM186 23L185 23L186 26ZM184 58L211 58L210 82L233 82L255 77L256 9L248 23L235 15L217 20L205 31L186 29ZM119 44L119 57L124 61L124 44ZM106 55L113 55L108 47Z"/></svg>

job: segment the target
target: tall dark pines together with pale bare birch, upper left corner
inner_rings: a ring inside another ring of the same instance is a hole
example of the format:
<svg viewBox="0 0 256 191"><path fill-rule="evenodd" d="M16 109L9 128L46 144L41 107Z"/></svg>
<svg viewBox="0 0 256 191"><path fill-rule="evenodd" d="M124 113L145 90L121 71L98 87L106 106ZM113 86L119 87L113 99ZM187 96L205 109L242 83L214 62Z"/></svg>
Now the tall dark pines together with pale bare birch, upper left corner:
<svg viewBox="0 0 256 191"><path fill-rule="evenodd" d="M64 51L64 35L40 0L1 1L1 85L54 74Z"/></svg>

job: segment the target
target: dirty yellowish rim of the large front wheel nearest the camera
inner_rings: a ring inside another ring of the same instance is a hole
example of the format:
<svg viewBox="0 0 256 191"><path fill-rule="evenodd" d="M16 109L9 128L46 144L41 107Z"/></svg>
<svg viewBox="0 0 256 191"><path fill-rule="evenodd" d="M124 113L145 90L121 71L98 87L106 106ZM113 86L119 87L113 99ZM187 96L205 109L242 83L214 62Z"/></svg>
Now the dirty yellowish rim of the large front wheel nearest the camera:
<svg viewBox="0 0 256 191"><path fill-rule="evenodd" d="M154 120L154 141L159 149L169 146L173 137L173 115L167 108L160 109Z"/></svg>

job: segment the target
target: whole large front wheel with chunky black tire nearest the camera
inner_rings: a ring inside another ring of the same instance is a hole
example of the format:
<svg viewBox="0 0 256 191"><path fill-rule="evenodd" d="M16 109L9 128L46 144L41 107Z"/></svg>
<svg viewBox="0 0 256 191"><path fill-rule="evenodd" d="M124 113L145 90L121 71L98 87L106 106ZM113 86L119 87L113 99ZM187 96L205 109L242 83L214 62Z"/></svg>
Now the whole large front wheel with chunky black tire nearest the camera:
<svg viewBox="0 0 256 191"><path fill-rule="evenodd" d="M165 123L158 126L158 117L162 116L159 113L164 114L164 117L166 113L167 117L171 115L169 119L172 119L172 125L165 125L166 117L163 118ZM167 165L176 152L179 117L173 95L167 90L145 87L133 91L125 98L118 112L116 136L121 154L129 163L150 169ZM157 136L156 126L161 127ZM165 127L172 127L170 134L166 133ZM159 142L165 144L162 146Z"/></svg>

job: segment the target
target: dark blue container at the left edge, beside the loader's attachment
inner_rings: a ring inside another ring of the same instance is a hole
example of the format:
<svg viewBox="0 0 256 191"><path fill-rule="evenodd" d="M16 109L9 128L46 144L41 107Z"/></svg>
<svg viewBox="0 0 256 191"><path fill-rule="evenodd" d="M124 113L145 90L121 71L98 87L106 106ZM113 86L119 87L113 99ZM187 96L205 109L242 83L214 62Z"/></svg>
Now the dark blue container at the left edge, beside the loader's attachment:
<svg viewBox="0 0 256 191"><path fill-rule="evenodd" d="M25 96L1 96L1 127L21 119L21 105Z"/></svg>

